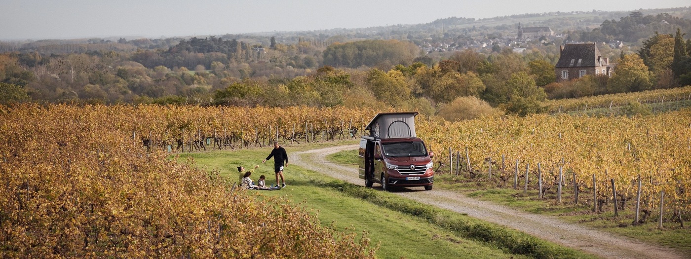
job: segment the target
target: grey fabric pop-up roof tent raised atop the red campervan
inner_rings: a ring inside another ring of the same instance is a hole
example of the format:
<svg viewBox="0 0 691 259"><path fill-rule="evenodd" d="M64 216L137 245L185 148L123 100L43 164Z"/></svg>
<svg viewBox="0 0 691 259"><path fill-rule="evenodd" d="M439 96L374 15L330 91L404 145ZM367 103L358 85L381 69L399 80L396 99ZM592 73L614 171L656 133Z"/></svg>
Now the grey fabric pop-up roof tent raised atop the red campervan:
<svg viewBox="0 0 691 259"><path fill-rule="evenodd" d="M365 130L370 131L370 137L396 138L415 136L415 113L379 113L367 124Z"/></svg>

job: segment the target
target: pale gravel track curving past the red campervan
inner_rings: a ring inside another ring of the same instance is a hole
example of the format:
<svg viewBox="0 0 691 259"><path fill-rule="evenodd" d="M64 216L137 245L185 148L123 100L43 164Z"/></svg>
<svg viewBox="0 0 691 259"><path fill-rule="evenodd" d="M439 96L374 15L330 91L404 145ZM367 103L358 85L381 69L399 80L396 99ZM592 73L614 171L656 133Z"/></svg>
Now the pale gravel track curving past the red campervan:
<svg viewBox="0 0 691 259"><path fill-rule="evenodd" d="M357 145L333 146L293 153L292 164L305 169L321 172L332 178L364 186L358 178L357 169L328 162L325 157L339 151L357 149ZM377 188L378 184L375 184ZM461 193L435 189L424 191L421 188L406 189L395 192L402 197L424 202L450 211L467 213L473 218L494 222L538 238L549 240L565 247L580 249L604 258L691 258L683 256L673 249L645 244L637 240L616 236L588 227L562 222L555 217L527 213L494 204L468 198Z"/></svg>

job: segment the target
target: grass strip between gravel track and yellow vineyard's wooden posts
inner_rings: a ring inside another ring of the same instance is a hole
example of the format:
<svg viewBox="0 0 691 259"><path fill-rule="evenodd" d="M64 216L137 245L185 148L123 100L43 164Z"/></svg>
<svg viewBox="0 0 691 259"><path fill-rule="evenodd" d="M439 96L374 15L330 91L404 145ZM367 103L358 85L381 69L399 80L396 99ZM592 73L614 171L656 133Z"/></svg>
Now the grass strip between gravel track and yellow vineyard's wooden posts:
<svg viewBox="0 0 691 259"><path fill-rule="evenodd" d="M339 159L337 159L340 157ZM331 154L327 159L345 165L357 163L357 151L342 151ZM499 186L498 186L499 185ZM627 209L614 216L612 205L605 205L605 211L594 213L589 204L583 203L588 193L580 193L580 201L574 203L574 190L562 190L562 202L557 201L556 190L550 189L544 199L538 198L538 191L529 189L523 193L522 186L514 190L511 183L506 185L489 181L486 178L468 180L464 175L435 175L435 188L448 189L464 193L469 197L496 202L498 204L522 209L523 211L542 215L553 215L567 222L584 224L610 233L617 233L650 244L658 244L691 253L691 229L679 227L679 223L665 222L664 230L658 229L656 218L649 218L645 224L633 226L634 208L628 202ZM642 215L642 213L641 213ZM652 216L654 217L654 215ZM686 222L688 224L688 222ZM686 226L686 225L685 225Z"/></svg>

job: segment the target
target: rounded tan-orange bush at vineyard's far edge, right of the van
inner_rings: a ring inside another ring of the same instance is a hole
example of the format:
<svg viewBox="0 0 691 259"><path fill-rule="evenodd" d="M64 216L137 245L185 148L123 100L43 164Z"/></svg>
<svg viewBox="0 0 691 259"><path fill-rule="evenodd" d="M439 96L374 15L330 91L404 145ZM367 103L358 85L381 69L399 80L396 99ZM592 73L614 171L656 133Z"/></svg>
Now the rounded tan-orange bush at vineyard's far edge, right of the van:
<svg viewBox="0 0 691 259"><path fill-rule="evenodd" d="M487 102L474 96L457 97L453 102L439 108L438 115L450 122L492 116L498 111Z"/></svg>

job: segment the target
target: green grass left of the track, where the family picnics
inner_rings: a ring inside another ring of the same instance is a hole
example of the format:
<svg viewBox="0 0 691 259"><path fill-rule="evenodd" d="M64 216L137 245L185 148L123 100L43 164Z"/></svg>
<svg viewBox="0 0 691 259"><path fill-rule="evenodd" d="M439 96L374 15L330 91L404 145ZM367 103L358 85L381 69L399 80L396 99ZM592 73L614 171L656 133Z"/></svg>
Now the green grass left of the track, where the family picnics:
<svg viewBox="0 0 691 259"><path fill-rule="evenodd" d="M286 148L290 153L309 147ZM236 166L261 162L268 151L268 148L216 151L182 157L192 157L198 166L216 170L232 181L237 178ZM258 178L264 174L267 183L273 183L271 171L270 166L261 166L252 176ZM288 183L285 189L256 191L257 197L281 196L299 202L299 206L313 210L322 224L331 224L338 231L367 231L372 243L380 245L379 258L589 257L518 231L326 178L298 166L290 165L285 175Z"/></svg>

